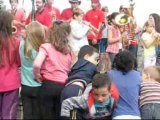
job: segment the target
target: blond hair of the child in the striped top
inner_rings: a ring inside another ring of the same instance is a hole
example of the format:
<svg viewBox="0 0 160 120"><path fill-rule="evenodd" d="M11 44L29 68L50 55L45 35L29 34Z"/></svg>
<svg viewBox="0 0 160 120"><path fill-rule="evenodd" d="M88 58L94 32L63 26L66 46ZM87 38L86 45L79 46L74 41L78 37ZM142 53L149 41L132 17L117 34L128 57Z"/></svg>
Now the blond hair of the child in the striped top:
<svg viewBox="0 0 160 120"><path fill-rule="evenodd" d="M143 70L143 73L149 74L151 79L160 82L160 67L159 66L149 66Z"/></svg>

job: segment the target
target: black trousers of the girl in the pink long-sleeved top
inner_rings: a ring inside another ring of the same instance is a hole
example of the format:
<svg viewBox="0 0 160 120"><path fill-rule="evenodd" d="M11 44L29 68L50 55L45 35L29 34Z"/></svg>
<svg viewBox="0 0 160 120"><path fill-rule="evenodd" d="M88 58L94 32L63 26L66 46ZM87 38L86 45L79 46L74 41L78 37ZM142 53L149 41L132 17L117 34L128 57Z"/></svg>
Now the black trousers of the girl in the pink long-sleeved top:
<svg viewBox="0 0 160 120"><path fill-rule="evenodd" d="M59 119L64 85L45 80L40 89L41 119Z"/></svg>

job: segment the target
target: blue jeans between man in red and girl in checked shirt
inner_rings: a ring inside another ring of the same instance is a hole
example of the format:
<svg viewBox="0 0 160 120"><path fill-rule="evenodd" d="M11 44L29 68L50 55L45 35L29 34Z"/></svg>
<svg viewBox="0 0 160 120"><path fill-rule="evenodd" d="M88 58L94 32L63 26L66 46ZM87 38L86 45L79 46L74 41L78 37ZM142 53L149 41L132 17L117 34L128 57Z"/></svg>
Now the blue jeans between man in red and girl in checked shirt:
<svg viewBox="0 0 160 120"><path fill-rule="evenodd" d="M105 53L108 46L108 38L102 38L99 44L100 53Z"/></svg>

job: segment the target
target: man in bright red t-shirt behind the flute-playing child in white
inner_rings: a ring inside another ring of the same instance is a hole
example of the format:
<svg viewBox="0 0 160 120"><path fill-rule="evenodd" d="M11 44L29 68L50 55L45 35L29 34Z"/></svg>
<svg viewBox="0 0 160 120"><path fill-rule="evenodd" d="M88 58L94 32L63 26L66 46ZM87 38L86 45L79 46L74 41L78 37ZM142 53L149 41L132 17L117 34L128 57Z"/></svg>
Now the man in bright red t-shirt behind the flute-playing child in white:
<svg viewBox="0 0 160 120"><path fill-rule="evenodd" d="M99 49L99 42L102 38L101 31L102 31L102 26L105 22L105 16L100 9L99 0L91 0L91 5L92 5L92 9L86 13L84 19L90 22L91 25L93 25L95 28L97 28L96 31L94 30L95 35L93 34L88 35L88 41L90 45Z"/></svg>

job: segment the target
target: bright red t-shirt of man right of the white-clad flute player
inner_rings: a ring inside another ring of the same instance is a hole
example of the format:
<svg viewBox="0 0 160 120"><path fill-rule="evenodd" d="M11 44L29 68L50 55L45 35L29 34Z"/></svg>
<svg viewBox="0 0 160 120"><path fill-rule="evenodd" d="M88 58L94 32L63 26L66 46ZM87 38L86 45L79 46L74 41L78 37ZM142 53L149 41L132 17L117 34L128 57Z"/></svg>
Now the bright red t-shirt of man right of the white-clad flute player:
<svg viewBox="0 0 160 120"><path fill-rule="evenodd" d="M104 13L100 9L96 10L89 10L84 19L88 22L90 22L95 28L99 27L99 23L104 23L105 22L105 16ZM96 37L93 36L92 34L88 35L88 39L97 39L100 40L102 38L102 33L100 32Z"/></svg>

